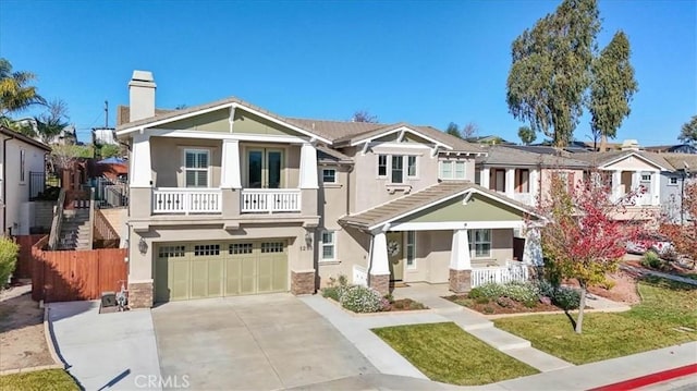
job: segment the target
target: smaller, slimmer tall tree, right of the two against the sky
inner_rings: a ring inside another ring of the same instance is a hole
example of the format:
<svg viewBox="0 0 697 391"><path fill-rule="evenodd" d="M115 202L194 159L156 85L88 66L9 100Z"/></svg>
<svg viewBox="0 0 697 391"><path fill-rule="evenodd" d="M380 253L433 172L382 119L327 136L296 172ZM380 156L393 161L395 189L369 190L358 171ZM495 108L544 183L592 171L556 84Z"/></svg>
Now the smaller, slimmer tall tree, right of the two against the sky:
<svg viewBox="0 0 697 391"><path fill-rule="evenodd" d="M592 61L588 109L590 130L600 137L601 151L608 137L614 138L622 120L629 115L629 101L638 90L629 54L629 39L620 30Z"/></svg>

